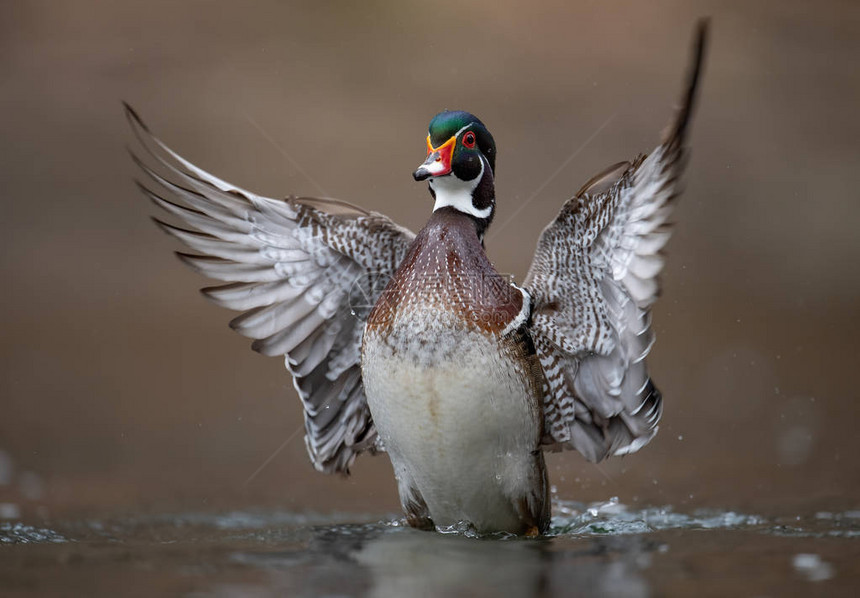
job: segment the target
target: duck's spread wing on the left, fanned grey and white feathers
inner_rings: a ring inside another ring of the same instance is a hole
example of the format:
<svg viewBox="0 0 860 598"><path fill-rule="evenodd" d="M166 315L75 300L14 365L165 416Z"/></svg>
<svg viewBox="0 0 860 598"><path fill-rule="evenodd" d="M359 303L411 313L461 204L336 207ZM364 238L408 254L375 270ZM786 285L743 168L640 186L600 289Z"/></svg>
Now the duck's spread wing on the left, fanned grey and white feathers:
<svg viewBox="0 0 860 598"><path fill-rule="evenodd" d="M156 222L198 252L178 253L183 262L226 283L202 292L243 312L230 326L254 339L255 351L286 356L314 466L348 473L358 453L381 448L359 367L361 316L415 235L344 202L269 199L226 183L155 138L127 105L126 113L166 174L133 155L157 190L141 189L192 230Z"/></svg>

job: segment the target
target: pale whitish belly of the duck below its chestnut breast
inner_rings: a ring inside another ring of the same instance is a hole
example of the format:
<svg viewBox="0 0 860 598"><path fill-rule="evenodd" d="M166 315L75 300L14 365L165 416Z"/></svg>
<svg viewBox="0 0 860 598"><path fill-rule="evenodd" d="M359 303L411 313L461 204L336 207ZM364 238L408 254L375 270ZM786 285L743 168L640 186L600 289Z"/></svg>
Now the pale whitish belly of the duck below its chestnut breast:
<svg viewBox="0 0 860 598"><path fill-rule="evenodd" d="M496 339L446 332L407 340L396 352L365 339L362 375L374 423L401 495L417 489L436 525L517 529L515 503L539 483L534 390Z"/></svg>

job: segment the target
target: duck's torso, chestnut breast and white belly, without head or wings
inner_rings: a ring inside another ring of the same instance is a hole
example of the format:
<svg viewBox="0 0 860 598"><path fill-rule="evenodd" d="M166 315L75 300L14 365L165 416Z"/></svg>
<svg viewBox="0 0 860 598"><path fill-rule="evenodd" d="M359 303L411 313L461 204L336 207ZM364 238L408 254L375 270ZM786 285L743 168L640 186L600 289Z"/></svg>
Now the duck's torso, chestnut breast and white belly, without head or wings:
<svg viewBox="0 0 860 598"><path fill-rule="evenodd" d="M368 406L419 527L549 524L541 374L528 297L493 268L474 219L433 213L371 311Z"/></svg>

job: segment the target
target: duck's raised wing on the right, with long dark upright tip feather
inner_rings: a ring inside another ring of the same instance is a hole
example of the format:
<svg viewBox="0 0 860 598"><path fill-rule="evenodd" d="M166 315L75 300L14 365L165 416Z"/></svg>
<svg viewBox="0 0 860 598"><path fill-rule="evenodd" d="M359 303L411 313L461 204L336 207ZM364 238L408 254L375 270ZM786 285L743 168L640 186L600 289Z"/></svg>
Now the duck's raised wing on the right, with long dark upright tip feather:
<svg viewBox="0 0 860 598"><path fill-rule="evenodd" d="M662 398L645 367L654 342L650 307L706 32L700 23L682 104L663 143L586 183L544 229L525 281L546 379L544 442L590 461L634 452L657 432Z"/></svg>

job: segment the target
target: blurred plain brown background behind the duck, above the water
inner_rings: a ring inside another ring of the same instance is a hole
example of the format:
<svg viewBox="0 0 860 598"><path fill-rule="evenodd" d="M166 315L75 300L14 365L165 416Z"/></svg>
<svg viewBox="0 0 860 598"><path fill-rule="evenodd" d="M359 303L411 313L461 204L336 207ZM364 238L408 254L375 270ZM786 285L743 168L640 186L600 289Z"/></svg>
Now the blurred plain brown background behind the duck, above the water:
<svg viewBox="0 0 860 598"><path fill-rule="evenodd" d="M650 150L697 18L712 44L655 309L661 432L563 498L749 511L860 506L860 4L35 2L0 5L0 502L397 511L385 457L313 471L279 360L171 251L134 188L120 100L255 191L413 230L443 108L499 147L488 250L519 279L594 172ZM513 222L526 201L608 124ZM296 166L298 165L298 167Z"/></svg>

